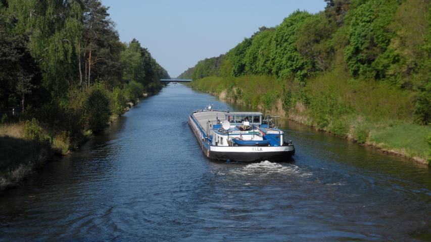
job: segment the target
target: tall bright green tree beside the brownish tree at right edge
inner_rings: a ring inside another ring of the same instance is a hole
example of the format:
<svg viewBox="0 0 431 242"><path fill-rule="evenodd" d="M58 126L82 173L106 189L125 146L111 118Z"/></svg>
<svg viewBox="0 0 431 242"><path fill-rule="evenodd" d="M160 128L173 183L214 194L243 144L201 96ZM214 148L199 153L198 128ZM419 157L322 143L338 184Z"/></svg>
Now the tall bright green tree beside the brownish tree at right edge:
<svg viewBox="0 0 431 242"><path fill-rule="evenodd" d="M389 66L399 61L388 45L393 37L389 24L400 4L399 0L371 0L348 13L349 45L344 52L353 76L385 78Z"/></svg>

